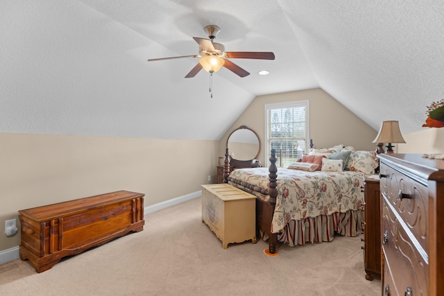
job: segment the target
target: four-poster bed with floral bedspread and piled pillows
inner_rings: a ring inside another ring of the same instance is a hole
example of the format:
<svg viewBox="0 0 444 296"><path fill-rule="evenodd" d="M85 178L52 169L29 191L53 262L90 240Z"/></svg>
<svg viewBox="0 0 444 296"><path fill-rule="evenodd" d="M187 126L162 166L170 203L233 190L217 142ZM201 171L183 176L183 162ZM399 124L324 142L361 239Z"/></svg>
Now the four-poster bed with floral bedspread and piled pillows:
<svg viewBox="0 0 444 296"><path fill-rule="evenodd" d="M344 146L311 150L309 154L316 156L303 155L300 164L279 171L275 150L271 150L269 168L229 171L225 164L224 182L257 197L257 227L259 235L268 239L267 254L277 254L278 241L304 245L332 241L335 234L361 233L364 174L375 173L376 153ZM305 156L310 162L303 160Z"/></svg>

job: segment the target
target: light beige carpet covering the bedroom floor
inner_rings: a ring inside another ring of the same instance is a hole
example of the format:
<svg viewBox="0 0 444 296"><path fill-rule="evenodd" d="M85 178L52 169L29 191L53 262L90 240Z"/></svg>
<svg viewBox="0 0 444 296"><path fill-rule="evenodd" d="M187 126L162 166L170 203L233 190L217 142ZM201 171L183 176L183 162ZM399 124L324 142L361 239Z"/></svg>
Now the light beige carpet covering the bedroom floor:
<svg viewBox="0 0 444 296"><path fill-rule="evenodd" d="M381 295L367 281L360 237L278 245L230 244L202 223L200 198L145 216L142 232L62 259L37 273L28 261L0 265L0 295Z"/></svg>

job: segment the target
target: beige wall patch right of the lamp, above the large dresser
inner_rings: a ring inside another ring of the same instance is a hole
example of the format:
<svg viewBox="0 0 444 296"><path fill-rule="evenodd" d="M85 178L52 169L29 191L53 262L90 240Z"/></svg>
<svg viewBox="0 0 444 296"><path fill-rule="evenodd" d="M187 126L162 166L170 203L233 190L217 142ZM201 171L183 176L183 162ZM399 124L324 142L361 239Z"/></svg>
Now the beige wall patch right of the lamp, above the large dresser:
<svg viewBox="0 0 444 296"><path fill-rule="evenodd" d="M406 143L398 146L398 153L444 153L444 128L424 128L418 132L402 134Z"/></svg>

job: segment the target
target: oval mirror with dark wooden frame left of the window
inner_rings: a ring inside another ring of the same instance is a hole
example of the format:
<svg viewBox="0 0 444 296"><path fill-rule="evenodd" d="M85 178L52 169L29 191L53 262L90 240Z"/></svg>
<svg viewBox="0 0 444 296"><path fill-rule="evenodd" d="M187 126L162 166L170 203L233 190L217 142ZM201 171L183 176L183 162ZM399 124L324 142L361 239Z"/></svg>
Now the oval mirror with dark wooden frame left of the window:
<svg viewBox="0 0 444 296"><path fill-rule="evenodd" d="M260 148L261 145L256 132L246 125L241 125L236 130L233 130L227 139L230 166L252 166L251 162L253 159L257 159Z"/></svg>

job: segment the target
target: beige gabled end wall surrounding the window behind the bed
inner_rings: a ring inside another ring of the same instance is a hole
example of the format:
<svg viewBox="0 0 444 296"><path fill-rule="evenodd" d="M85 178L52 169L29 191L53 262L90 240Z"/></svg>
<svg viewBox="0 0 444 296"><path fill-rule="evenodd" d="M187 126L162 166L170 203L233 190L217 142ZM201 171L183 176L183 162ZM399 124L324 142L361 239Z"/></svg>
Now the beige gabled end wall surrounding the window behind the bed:
<svg viewBox="0 0 444 296"><path fill-rule="evenodd" d="M266 164L264 155L265 104L301 100L309 100L309 137L313 139L315 148L343 144L354 146L357 150L376 149L375 143L372 143L377 134L376 130L361 121L322 89L309 89L255 98L219 141L217 156L225 155L228 135L240 125L247 125L259 135L261 143L259 160L262 164Z"/></svg>

